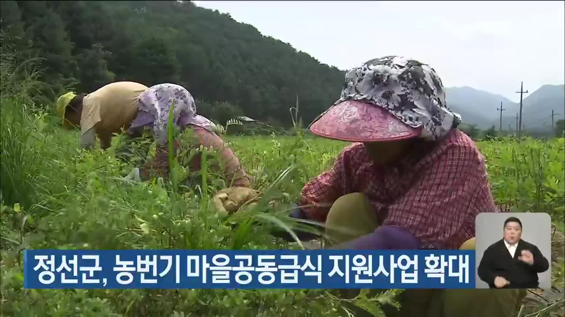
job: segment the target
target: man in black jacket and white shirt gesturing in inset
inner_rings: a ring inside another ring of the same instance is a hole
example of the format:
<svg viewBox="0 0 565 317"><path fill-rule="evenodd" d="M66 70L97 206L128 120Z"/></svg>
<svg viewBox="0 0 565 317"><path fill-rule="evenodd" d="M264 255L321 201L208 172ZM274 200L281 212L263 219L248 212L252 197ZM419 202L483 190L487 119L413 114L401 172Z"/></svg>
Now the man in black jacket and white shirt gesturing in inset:
<svg viewBox="0 0 565 317"><path fill-rule="evenodd" d="M537 246L521 240L520 219L506 219L503 231L503 239L485 250L479 278L490 288L537 288L537 274L547 271L549 262Z"/></svg>

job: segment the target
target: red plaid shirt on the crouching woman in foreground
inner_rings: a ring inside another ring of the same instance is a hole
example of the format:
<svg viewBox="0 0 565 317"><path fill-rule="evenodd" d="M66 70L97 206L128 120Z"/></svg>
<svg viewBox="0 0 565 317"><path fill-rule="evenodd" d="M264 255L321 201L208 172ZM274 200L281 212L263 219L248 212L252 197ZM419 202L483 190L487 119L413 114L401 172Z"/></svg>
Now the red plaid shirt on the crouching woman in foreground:
<svg viewBox="0 0 565 317"><path fill-rule="evenodd" d="M422 142L396 164L371 161L362 143L346 147L331 170L302 189L307 217L325 222L332 203L347 193L370 200L383 225L401 226L421 241L420 248L458 249L475 236L475 216L497 212L484 158L458 129L441 140Z"/></svg>

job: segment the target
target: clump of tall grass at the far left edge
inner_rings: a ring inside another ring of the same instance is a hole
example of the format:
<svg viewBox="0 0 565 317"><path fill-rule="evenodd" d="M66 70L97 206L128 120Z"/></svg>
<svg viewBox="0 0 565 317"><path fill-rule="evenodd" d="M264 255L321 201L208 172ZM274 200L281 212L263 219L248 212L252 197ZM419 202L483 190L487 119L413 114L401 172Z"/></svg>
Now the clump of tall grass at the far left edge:
<svg viewBox="0 0 565 317"><path fill-rule="evenodd" d="M0 37L0 196L6 204L29 207L45 146L38 135L42 116L33 103L42 83L37 80L37 60L17 64L10 42Z"/></svg>

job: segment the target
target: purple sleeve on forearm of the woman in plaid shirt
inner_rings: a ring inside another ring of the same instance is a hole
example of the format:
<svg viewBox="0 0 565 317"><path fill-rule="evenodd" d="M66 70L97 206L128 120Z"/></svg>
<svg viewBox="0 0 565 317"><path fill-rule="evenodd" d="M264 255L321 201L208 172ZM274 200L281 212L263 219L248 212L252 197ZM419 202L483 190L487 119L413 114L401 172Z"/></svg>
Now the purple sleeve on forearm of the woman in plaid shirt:
<svg viewBox="0 0 565 317"><path fill-rule="evenodd" d="M397 226L379 226L371 234L347 241L331 249L379 250L418 249L419 240L405 229Z"/></svg>

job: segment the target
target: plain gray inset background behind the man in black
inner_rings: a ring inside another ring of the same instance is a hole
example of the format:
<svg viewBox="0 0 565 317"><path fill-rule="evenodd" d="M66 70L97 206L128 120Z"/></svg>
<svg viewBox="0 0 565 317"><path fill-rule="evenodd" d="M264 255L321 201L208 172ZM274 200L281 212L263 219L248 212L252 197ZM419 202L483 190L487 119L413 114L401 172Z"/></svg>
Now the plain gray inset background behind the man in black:
<svg viewBox="0 0 565 317"><path fill-rule="evenodd" d="M551 217L547 213L480 213L475 218L475 281L476 288L489 288L479 278L477 268L486 248L503 237L504 221L516 217L522 223L521 239L536 245L541 254L549 262L549 269L538 273L540 288L551 288Z"/></svg>

